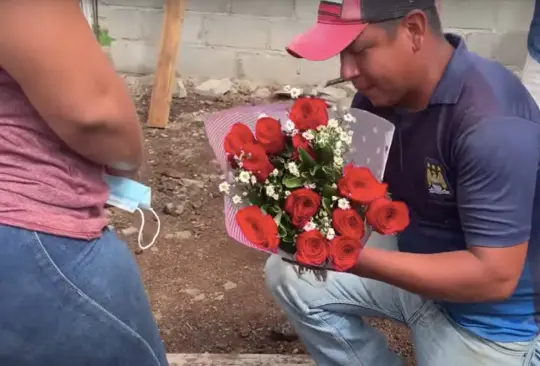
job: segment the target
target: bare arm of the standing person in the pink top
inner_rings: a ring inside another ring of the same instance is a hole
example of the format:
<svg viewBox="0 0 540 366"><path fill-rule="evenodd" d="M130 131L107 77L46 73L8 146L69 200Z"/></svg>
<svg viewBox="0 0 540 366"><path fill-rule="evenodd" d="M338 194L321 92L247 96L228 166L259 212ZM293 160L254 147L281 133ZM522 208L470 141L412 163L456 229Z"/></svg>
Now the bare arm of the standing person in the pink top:
<svg viewBox="0 0 540 366"><path fill-rule="evenodd" d="M141 164L134 103L78 1L0 1L0 67L73 150L102 165Z"/></svg>

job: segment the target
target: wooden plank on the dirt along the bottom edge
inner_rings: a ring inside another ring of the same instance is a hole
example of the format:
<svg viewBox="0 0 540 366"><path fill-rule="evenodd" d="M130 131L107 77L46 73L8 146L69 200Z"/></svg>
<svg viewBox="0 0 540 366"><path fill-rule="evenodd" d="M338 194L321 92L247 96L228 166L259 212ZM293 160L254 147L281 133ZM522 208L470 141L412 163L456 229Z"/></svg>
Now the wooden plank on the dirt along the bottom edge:
<svg viewBox="0 0 540 366"><path fill-rule="evenodd" d="M303 355L167 354L170 366L315 366Z"/></svg>

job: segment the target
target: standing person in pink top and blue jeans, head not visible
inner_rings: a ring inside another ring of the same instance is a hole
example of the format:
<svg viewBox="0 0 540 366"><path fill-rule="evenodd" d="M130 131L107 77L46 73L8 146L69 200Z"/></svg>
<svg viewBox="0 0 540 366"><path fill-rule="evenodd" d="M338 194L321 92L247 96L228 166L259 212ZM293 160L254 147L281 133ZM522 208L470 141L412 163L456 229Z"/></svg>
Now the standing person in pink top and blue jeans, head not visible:
<svg viewBox="0 0 540 366"><path fill-rule="evenodd" d="M167 365L104 213L105 169L133 175L142 145L79 2L1 1L0 365Z"/></svg>

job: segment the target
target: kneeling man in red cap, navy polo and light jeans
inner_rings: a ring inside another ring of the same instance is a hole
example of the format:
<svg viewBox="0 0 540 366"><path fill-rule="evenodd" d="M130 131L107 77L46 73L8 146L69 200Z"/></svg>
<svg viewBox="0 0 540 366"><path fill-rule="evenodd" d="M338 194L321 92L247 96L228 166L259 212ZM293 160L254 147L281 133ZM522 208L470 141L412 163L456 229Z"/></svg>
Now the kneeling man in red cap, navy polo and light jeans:
<svg viewBox="0 0 540 366"><path fill-rule="evenodd" d="M385 181L411 210L399 237L373 236L324 286L269 259L268 286L317 364L402 365L361 318L383 316L410 327L417 365L529 365L540 111L520 80L443 34L434 0L322 1L288 51L339 54L353 107L395 124Z"/></svg>

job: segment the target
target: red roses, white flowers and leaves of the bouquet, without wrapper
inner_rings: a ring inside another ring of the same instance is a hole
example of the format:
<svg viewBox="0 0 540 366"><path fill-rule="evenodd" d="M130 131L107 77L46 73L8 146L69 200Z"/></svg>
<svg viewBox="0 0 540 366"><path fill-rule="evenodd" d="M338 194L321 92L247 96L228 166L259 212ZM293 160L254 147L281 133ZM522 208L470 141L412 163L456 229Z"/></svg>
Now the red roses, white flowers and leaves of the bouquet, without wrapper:
<svg viewBox="0 0 540 366"><path fill-rule="evenodd" d="M347 163L356 118L328 114L323 99L303 96L284 122L260 115L222 141L229 179L220 191L238 206L235 221L249 242L300 265L347 271L370 230L396 234L407 206L365 166Z"/></svg>

